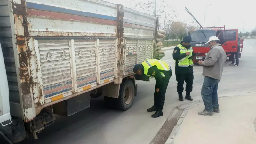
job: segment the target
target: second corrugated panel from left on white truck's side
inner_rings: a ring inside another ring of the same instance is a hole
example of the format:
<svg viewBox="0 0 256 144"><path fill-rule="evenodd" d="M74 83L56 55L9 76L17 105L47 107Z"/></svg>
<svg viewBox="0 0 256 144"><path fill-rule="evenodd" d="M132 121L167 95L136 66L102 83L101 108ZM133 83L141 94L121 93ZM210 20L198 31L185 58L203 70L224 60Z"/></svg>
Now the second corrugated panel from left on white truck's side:
<svg viewBox="0 0 256 144"><path fill-rule="evenodd" d="M75 40L77 87L96 83L95 40Z"/></svg>

